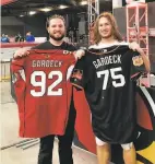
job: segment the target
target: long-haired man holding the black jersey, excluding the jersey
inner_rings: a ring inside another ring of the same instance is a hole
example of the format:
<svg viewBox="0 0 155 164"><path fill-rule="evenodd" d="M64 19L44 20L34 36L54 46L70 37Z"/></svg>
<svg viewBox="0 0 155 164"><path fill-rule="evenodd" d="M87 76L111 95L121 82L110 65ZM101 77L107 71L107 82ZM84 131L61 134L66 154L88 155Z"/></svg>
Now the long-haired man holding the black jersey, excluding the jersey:
<svg viewBox="0 0 155 164"><path fill-rule="evenodd" d="M92 47L106 47L110 45L117 45L122 43L120 32L118 31L117 22L114 15L109 12L102 13L94 26L94 43ZM140 52L145 63L146 70L150 70L150 62L143 52L142 48L135 43L129 44L129 47ZM99 164L108 164L110 160L110 143L102 141L96 137L97 144L97 157ZM135 164L135 149L133 142L121 144L123 149L123 160L126 164Z"/></svg>

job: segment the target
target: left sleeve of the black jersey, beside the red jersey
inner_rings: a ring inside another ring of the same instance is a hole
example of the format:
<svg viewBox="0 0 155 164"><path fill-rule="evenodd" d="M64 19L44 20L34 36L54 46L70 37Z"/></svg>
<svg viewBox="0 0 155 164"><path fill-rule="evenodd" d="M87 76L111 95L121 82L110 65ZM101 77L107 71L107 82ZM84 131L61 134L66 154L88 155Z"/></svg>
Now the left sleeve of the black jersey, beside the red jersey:
<svg viewBox="0 0 155 164"><path fill-rule="evenodd" d="M86 63L85 63L85 57L78 60L71 78L70 82L76 87L76 89L84 89L87 82L87 75L86 75Z"/></svg>

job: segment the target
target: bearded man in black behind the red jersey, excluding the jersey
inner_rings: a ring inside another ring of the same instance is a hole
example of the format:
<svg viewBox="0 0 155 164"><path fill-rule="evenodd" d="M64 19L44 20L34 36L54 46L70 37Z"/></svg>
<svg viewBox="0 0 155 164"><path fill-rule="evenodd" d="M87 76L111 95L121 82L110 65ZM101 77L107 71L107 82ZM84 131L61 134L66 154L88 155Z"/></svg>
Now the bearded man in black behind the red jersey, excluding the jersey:
<svg viewBox="0 0 155 164"><path fill-rule="evenodd" d="M52 15L47 20L47 32L50 36L49 40L33 47L32 49L64 49L69 51L74 51L76 48L72 45L63 42L65 34L65 22L61 15ZM27 56L26 49L22 48L15 51L14 58ZM75 58L81 58L83 50L78 50L74 55ZM60 102L61 103L61 102ZM57 109L57 108L56 108ZM68 114L67 114L68 115ZM74 136L74 124L75 124L75 108L73 104L73 95L71 97L68 124L63 127L65 131L63 136L57 136L59 139L59 161L60 164L73 164L72 159L72 141ZM60 120L61 121L61 120ZM53 140L56 134L50 134L40 138L38 164L51 164L52 163L52 149Z"/></svg>

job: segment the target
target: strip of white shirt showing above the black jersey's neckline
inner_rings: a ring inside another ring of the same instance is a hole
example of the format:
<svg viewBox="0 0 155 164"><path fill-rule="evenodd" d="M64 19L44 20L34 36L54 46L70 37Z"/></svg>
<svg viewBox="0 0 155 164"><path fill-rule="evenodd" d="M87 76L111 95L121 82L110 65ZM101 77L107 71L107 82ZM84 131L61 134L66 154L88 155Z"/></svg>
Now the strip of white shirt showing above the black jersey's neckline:
<svg viewBox="0 0 155 164"><path fill-rule="evenodd" d="M118 42L115 42L112 44L98 44L98 45L92 45L88 47L88 49L93 48L93 49L100 49L100 48L108 48L108 47L111 47L111 46L129 46L128 43L126 42L121 42L121 43L118 43Z"/></svg>

